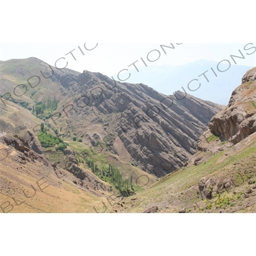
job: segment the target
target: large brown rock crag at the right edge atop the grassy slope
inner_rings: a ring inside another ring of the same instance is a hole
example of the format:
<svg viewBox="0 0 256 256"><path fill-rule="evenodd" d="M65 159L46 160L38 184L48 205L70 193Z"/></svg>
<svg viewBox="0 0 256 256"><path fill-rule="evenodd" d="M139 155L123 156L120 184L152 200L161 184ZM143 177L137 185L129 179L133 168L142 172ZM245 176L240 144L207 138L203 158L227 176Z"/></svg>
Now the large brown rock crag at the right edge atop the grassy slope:
<svg viewBox="0 0 256 256"><path fill-rule="evenodd" d="M209 124L212 134L233 144L256 131L256 68L248 71L242 82L232 93L227 108L215 115Z"/></svg>

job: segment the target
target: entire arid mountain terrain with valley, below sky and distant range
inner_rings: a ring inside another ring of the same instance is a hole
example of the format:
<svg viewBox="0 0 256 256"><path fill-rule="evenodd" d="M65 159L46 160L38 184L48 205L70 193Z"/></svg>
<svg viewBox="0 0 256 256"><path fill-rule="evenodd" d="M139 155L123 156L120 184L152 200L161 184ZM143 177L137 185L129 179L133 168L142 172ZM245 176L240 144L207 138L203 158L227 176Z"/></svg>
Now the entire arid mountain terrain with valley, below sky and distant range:
<svg viewBox="0 0 256 256"><path fill-rule="evenodd" d="M36 58L0 70L1 212L255 212L256 68L226 107Z"/></svg>

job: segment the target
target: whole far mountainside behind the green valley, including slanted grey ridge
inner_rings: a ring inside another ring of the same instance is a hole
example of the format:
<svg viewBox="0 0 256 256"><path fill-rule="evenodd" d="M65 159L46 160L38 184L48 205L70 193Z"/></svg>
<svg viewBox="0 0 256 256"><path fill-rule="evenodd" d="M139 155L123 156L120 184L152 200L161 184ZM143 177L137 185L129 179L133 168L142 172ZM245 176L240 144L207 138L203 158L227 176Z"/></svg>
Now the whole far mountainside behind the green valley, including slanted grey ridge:
<svg viewBox="0 0 256 256"><path fill-rule="evenodd" d="M58 108L41 118L64 140L76 136L158 177L195 154L195 141L221 109L184 92L166 96L145 84L58 70L36 58L4 61L0 68L1 108L4 99L32 108L55 97Z"/></svg>

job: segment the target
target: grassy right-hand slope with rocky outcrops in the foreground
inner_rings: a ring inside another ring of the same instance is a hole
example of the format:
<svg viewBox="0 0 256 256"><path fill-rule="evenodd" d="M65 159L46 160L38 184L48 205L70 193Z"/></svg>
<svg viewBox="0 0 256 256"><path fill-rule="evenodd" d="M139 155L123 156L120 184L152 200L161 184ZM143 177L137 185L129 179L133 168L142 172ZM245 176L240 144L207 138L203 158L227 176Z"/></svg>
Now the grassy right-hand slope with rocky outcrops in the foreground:
<svg viewBox="0 0 256 256"><path fill-rule="evenodd" d="M253 68L232 93L227 108L211 119L198 141L198 152L186 166L122 205L116 204L112 211L255 212L255 124Z"/></svg>

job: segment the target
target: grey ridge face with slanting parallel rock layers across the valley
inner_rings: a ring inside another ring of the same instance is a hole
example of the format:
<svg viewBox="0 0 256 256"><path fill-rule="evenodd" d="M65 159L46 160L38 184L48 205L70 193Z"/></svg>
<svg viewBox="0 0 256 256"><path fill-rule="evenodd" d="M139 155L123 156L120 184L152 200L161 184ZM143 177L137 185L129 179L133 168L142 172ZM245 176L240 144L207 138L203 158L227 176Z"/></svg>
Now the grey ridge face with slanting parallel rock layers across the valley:
<svg viewBox="0 0 256 256"><path fill-rule="evenodd" d="M105 125L104 131L124 145L142 170L158 177L195 154L198 137L221 110L186 91L166 96L145 84L118 83L98 73L84 71L77 81L71 86L74 102L86 108L72 111L73 120L90 116L92 124ZM113 151L122 155L115 143Z"/></svg>

